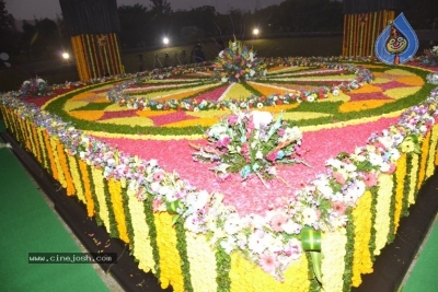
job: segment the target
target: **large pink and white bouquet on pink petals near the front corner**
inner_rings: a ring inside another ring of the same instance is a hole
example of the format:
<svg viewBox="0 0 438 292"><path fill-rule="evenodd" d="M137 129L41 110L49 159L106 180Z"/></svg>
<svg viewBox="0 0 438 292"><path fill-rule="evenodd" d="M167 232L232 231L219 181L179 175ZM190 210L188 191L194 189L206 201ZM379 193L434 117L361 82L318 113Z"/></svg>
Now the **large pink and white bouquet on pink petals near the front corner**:
<svg viewBox="0 0 438 292"><path fill-rule="evenodd" d="M297 126L274 120L269 112L235 112L207 129L208 144L196 147L195 161L217 162L212 170L223 177L240 173L258 178L276 176L276 164L303 163L300 160L302 133Z"/></svg>

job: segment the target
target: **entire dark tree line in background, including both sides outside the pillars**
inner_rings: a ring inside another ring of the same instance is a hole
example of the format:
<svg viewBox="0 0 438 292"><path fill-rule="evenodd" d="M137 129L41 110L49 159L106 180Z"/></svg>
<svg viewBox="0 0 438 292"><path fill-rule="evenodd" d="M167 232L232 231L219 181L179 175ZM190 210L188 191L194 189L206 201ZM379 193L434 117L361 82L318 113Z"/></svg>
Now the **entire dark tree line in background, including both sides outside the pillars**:
<svg viewBox="0 0 438 292"><path fill-rule="evenodd" d="M355 2L356 1L356 2ZM349 1L358 3L358 0ZM404 12L415 30L438 28L436 0L391 0L396 13ZM345 2L346 4L347 2ZM256 11L230 10L218 13L214 7L173 11L168 0L150 0L149 5L120 5L119 38L124 48L150 47L164 36L175 42L232 36L251 38L257 27L262 36L302 32L342 32L345 5L331 0L285 0ZM13 16L13 15L12 15ZM62 19L42 19L24 23L14 31L11 15L0 0L0 52L24 55L27 59L50 58L70 47Z"/></svg>

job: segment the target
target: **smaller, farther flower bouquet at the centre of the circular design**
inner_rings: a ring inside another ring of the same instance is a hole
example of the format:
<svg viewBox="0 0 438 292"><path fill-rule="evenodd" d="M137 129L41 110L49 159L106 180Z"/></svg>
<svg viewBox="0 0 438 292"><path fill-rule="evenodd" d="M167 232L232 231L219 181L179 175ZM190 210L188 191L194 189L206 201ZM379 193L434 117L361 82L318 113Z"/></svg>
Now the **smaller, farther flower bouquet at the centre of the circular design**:
<svg viewBox="0 0 438 292"><path fill-rule="evenodd" d="M244 82L266 75L266 65L257 59L254 50L234 39L229 47L219 52L215 73L222 82Z"/></svg>

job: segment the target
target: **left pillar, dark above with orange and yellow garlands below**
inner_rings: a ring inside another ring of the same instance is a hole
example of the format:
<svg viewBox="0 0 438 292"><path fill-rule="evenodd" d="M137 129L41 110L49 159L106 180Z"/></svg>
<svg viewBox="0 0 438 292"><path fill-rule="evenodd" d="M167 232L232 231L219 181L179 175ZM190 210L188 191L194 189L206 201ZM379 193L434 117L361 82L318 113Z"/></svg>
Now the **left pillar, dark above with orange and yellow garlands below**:
<svg viewBox="0 0 438 292"><path fill-rule="evenodd" d="M124 73L116 0L59 0L81 81Z"/></svg>

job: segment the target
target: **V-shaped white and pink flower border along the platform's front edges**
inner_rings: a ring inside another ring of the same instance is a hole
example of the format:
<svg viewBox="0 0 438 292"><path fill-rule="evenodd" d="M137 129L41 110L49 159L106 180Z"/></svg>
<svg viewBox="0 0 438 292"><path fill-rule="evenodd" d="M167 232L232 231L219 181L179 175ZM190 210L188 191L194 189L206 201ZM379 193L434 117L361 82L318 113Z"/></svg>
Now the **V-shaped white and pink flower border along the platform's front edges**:
<svg viewBox="0 0 438 292"><path fill-rule="evenodd" d="M401 152L418 151L438 115L437 89L423 104L407 109L397 125L373 133L366 147L330 159L326 172L316 175L293 197L285 198L281 208L267 210L264 217L241 217L233 207L223 205L222 194L198 190L178 174L162 170L155 160L125 154L59 117L23 103L16 94L3 94L0 102L21 118L58 137L70 155L79 155L87 164L104 170L106 179L119 180L138 200L151 199L155 212L170 212L174 223L208 235L211 244L228 254L242 252L278 280L283 280L286 268L303 253L302 230L325 232L345 227L348 210L358 198L377 184L379 174L394 172Z"/></svg>

